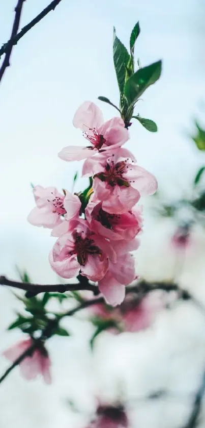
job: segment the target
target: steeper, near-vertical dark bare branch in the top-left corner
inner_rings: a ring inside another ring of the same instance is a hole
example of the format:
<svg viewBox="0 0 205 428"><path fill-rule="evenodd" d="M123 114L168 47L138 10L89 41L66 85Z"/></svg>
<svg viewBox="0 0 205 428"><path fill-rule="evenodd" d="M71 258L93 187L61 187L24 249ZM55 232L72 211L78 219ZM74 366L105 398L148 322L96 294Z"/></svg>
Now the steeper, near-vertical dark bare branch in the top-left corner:
<svg viewBox="0 0 205 428"><path fill-rule="evenodd" d="M21 12L22 12L22 7L23 7L23 2L25 2L25 0L18 0L18 3L15 7L15 17L14 17L14 22L13 22L13 27L12 27L12 32L11 32L11 37L9 39L9 41L7 42L7 51L6 51L6 55L5 55L5 59L3 61L3 64L0 68L0 82L3 78L3 75L6 71L6 68L9 67L10 63L10 56L11 56L11 52L12 52L12 48L13 48L13 43L12 43L12 39L17 35L18 33L18 28L19 28L19 23L20 23L20 18L21 18Z"/></svg>

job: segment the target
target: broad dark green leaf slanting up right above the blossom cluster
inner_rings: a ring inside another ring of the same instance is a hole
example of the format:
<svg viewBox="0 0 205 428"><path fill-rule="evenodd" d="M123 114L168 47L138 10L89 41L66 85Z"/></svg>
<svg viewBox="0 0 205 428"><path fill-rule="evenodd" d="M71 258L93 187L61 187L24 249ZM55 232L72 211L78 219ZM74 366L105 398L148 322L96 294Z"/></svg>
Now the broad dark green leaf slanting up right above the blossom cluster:
<svg viewBox="0 0 205 428"><path fill-rule="evenodd" d="M125 84L125 96L128 105L134 105L140 95L153 85L161 75L162 62L157 61L147 67L140 68Z"/></svg>

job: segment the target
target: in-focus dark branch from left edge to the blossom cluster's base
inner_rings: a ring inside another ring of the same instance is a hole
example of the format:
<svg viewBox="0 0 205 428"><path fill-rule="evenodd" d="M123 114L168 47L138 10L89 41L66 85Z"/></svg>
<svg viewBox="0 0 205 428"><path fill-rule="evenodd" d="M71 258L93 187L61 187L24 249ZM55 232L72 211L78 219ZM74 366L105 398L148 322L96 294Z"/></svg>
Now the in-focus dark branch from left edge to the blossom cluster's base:
<svg viewBox="0 0 205 428"><path fill-rule="evenodd" d="M78 284L31 284L23 283L19 281L11 281L6 278L6 276L0 276L0 285L19 288L20 290L27 291L26 297L33 297L39 293L53 292L58 291L58 293L64 293L65 291L80 291L80 290L89 290L93 293L99 294L98 287L96 285L90 284L86 278L78 276Z"/></svg>

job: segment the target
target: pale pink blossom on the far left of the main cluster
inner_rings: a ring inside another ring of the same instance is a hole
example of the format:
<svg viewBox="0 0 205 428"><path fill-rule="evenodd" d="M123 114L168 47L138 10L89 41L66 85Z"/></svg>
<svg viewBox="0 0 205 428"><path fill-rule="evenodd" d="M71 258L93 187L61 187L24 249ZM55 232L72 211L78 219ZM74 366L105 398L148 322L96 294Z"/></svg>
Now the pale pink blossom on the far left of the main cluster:
<svg viewBox="0 0 205 428"><path fill-rule="evenodd" d="M33 208L27 220L35 226L53 229L52 235L61 234L66 226L65 220L79 215L81 207L77 195L65 191L61 194L55 187L36 186L33 189L37 207ZM55 229L56 228L56 229Z"/></svg>

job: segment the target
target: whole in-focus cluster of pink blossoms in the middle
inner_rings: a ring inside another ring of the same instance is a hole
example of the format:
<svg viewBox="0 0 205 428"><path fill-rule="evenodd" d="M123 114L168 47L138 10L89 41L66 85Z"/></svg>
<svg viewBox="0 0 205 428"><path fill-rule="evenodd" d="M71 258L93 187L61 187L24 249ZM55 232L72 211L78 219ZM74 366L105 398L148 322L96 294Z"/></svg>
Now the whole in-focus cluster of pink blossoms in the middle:
<svg viewBox="0 0 205 428"><path fill-rule="evenodd" d="M141 195L156 191L157 182L122 147L129 133L121 117L104 122L101 110L86 101L73 124L87 145L64 147L58 156L67 162L84 160L82 177L92 177L93 185L86 195L36 186L37 206L28 221L52 229L57 240L49 261L58 275L69 279L80 273L116 306L124 300L125 286L136 278L130 254L139 246L142 229L142 208L136 204Z"/></svg>

